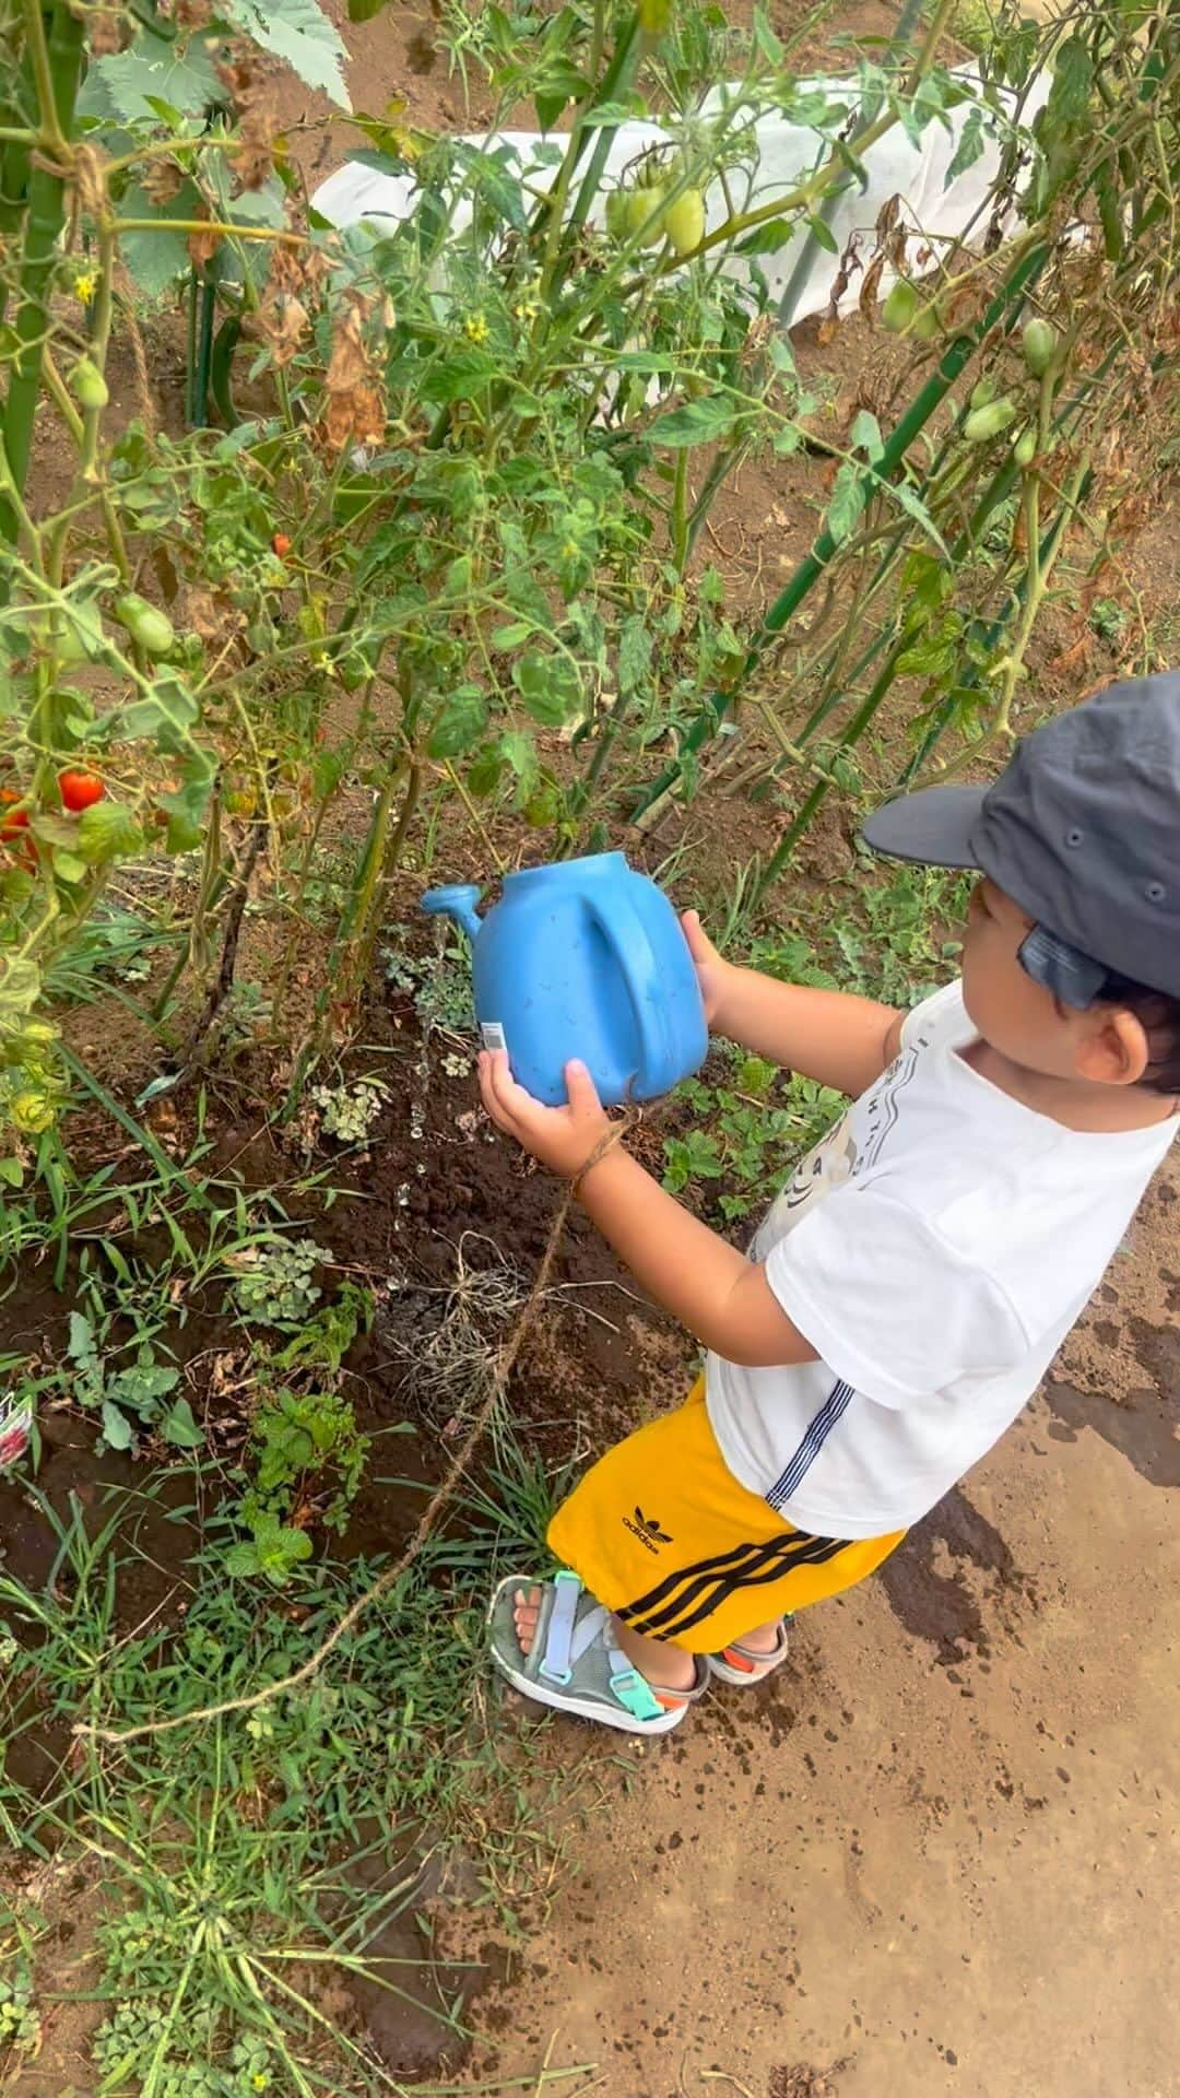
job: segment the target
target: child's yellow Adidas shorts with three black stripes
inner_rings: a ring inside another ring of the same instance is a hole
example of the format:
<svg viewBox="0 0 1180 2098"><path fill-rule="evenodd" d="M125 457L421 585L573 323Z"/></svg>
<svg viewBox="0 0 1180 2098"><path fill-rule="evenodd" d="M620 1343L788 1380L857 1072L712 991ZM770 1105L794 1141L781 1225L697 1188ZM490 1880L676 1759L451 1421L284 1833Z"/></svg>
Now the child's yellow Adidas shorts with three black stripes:
<svg viewBox="0 0 1180 2098"><path fill-rule="evenodd" d="M697 1378L674 1414L628 1435L561 1504L548 1542L624 1624L718 1653L758 1624L865 1580L905 1532L813 1538L729 1471Z"/></svg>

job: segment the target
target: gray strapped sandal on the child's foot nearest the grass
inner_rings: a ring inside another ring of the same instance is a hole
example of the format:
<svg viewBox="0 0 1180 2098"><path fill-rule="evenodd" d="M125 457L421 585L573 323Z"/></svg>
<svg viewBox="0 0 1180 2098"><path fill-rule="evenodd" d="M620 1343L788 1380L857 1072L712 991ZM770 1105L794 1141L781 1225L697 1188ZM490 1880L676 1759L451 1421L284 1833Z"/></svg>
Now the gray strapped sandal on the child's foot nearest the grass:
<svg viewBox="0 0 1180 2098"><path fill-rule="evenodd" d="M531 1653L521 1651L512 1613L523 1588L540 1590ZM670 1733L710 1683L708 1662L697 1655L693 1689L651 1685L615 1645L611 1611L565 1567L552 1580L508 1574L491 1597L487 1630L491 1660L523 1697L617 1727L619 1733Z"/></svg>

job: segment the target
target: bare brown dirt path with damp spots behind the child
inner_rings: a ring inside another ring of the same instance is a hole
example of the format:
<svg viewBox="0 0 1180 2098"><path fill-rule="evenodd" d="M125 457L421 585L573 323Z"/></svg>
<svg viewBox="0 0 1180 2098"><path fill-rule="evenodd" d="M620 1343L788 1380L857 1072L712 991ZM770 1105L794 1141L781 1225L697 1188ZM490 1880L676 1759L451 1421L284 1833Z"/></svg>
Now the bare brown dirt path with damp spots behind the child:
<svg viewBox="0 0 1180 2098"><path fill-rule="evenodd" d="M552 2048L611 2098L1176 2090L1178 1187L1090 1320L1121 1404L1054 1387L779 1683L647 1752L472 2083Z"/></svg>

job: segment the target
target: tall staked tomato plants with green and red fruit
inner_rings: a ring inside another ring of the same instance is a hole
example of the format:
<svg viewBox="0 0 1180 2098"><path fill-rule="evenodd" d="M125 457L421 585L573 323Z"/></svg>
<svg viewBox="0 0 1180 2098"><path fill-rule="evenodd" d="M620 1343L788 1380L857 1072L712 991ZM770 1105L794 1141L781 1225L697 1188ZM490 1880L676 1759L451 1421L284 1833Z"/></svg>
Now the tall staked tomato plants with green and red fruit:
<svg viewBox="0 0 1180 2098"><path fill-rule="evenodd" d="M525 34L487 10L493 128L531 99L538 164L361 113L365 164L414 189L399 220L344 229L304 210L250 42L344 107L315 0L6 19L0 1030L27 1041L46 967L126 862L172 856L187 921L151 1022L195 1009L193 1068L252 898L275 919L279 1032L317 856L361 793L311 1011L279 1043L294 1108L447 804L489 866L504 822L594 848L693 793L741 701L764 741L731 785L800 787L766 881L855 789L897 680L913 768L943 734L1010 726L1062 548L1081 539L1107 590L1144 514L1111 430L1134 411L1167 447L1178 25L1012 25L972 84L939 63L947 17L865 48L855 94L804 82L758 17L733 90L705 94L718 46L695 17L552 8ZM766 109L815 141L771 193ZM647 134L607 180L619 113ZM800 376L794 283L838 248L829 208L876 145L951 120L947 180L985 141L997 157L978 245L899 199L848 237L821 348L859 281L869 319L888 294L901 357L844 401ZM174 292L185 434L128 422L111 388L120 342ZM71 462L52 499L29 478L38 407ZM817 457L823 483L808 554L743 631L708 533L754 455ZM783 690L762 688L775 650Z"/></svg>

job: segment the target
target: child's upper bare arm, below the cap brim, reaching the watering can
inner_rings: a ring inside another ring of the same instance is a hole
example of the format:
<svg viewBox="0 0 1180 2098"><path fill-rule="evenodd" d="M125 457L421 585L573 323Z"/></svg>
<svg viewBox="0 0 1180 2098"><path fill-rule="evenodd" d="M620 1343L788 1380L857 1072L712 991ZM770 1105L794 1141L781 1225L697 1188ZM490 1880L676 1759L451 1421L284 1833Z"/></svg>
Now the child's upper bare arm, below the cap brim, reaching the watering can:
<svg viewBox="0 0 1180 2098"><path fill-rule="evenodd" d="M903 1015L890 1005L842 990L779 984L758 969L739 969L718 955L695 911L684 915L682 925L714 1034L726 1034L771 1064L852 1097L892 1064Z"/></svg>

